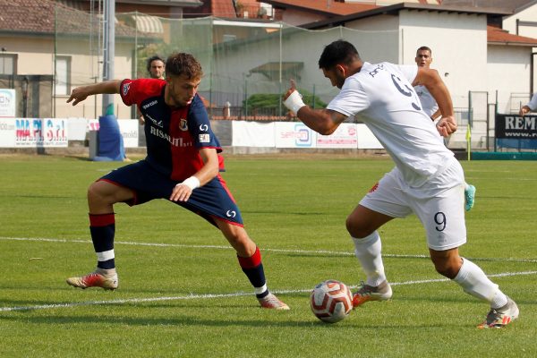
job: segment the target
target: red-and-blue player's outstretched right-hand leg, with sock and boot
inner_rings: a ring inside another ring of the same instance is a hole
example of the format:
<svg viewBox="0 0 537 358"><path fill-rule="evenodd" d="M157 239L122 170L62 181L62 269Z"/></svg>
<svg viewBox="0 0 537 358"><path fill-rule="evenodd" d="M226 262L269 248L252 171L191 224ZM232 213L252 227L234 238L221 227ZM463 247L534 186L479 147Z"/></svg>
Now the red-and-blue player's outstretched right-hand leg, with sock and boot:
<svg viewBox="0 0 537 358"><path fill-rule="evenodd" d="M222 234L237 252L239 264L246 277L250 280L261 307L274 310L289 310L289 306L286 303L281 302L275 294L268 291L260 250L251 241L246 230L242 226L232 225L223 220L216 221Z"/></svg>

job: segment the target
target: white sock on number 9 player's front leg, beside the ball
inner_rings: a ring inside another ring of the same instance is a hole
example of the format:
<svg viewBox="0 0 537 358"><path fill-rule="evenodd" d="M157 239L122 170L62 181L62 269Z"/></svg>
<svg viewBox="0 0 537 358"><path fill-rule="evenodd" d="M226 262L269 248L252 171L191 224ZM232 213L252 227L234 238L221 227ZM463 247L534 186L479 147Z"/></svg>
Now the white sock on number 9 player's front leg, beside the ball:
<svg viewBox="0 0 537 358"><path fill-rule="evenodd" d="M380 256L382 244L380 243L379 233L375 231L366 237L360 239L353 237L352 239L354 242L354 256L362 264L363 272L367 277L365 283L369 286L379 286L386 280L384 264Z"/></svg>

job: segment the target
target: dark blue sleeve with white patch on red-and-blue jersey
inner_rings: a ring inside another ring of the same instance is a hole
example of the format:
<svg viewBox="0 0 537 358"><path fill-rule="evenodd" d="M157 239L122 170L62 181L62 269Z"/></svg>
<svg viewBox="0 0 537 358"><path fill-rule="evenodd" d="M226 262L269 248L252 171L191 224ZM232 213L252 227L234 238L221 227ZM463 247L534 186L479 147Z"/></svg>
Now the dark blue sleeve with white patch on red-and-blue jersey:
<svg viewBox="0 0 537 358"><path fill-rule="evenodd" d="M192 141L196 148L214 148L221 152L220 142L210 127L209 115L203 105L200 96L196 95L192 99L192 104L188 112L189 130L192 135Z"/></svg>

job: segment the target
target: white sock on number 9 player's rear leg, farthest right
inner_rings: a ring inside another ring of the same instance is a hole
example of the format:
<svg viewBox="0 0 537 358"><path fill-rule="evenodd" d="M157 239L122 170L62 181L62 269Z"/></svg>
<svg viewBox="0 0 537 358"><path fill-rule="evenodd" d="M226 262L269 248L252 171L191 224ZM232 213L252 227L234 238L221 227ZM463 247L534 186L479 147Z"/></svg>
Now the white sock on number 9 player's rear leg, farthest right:
<svg viewBox="0 0 537 358"><path fill-rule="evenodd" d="M463 287L466 294L487 301L493 309L507 304L507 296L499 290L498 285L490 281L483 270L470 260L463 259L463 266L453 281Z"/></svg>

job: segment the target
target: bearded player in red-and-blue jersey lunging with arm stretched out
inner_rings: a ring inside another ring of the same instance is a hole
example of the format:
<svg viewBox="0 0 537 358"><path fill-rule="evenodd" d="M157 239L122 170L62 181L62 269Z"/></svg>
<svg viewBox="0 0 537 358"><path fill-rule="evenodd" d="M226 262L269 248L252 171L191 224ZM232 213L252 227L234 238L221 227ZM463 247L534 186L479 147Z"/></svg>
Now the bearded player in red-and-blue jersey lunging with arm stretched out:
<svg viewBox="0 0 537 358"><path fill-rule="evenodd" d="M71 286L114 290L114 204L139 205L166 199L217 226L237 253L261 307L288 310L268 291L260 250L243 227L234 198L219 175L222 151L209 116L196 93L203 72L189 54L166 60L166 81L154 79L104 81L72 90L76 105L90 95L119 93L127 106L137 105L145 118L147 157L120 167L92 183L88 190L90 233L98 263L95 271L70 277Z"/></svg>

